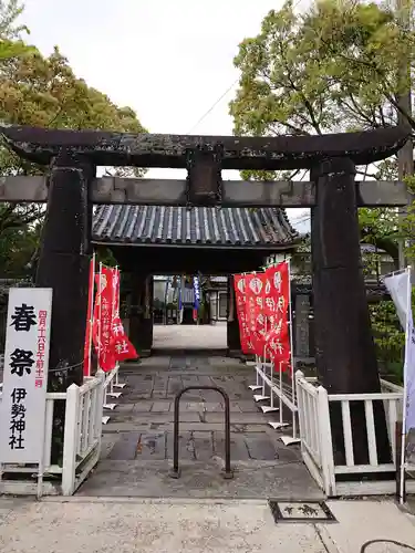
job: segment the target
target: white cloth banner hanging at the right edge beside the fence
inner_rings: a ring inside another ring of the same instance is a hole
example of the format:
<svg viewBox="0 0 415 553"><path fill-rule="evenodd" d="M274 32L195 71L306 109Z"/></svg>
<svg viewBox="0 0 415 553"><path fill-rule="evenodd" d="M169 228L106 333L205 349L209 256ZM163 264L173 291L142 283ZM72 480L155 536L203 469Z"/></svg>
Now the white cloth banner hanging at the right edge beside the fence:
<svg viewBox="0 0 415 553"><path fill-rule="evenodd" d="M411 269L384 278L385 286L395 304L401 324L405 330L405 431L415 428L415 328L412 313Z"/></svg>

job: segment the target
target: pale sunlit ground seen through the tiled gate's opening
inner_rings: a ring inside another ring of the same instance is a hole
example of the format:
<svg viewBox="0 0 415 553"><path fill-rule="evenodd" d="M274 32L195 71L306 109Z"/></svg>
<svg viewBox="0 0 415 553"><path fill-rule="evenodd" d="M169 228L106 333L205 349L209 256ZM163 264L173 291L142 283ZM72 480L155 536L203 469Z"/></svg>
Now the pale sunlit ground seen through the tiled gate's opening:
<svg viewBox="0 0 415 553"><path fill-rule="evenodd" d="M155 324L153 330L155 349L226 349L226 323L217 324Z"/></svg>

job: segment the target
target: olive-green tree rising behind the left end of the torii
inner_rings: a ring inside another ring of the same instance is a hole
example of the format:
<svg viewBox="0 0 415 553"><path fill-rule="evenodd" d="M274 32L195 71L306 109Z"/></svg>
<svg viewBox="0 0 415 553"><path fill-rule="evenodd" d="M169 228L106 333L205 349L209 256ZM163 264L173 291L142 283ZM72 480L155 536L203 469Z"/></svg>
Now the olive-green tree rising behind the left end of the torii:
<svg viewBox="0 0 415 553"><path fill-rule="evenodd" d="M131 107L116 106L105 94L76 77L58 48L51 55L43 56L35 48L28 46L21 40L21 34L28 30L15 24L22 9L18 0L7 3L0 0L2 123L54 128L146 132ZM0 147L1 175L39 175L45 170L45 167L24 161L8 148ZM108 168L107 173L116 174L112 168ZM127 176L141 174L137 168L124 170ZM8 244L11 244L13 233L18 232L21 246L25 237L28 244L35 248L39 232L33 233L33 225L41 221L43 212L43 208L35 205L0 205L0 267L3 272L9 274L12 271L17 276L27 272L25 264L7 264L7 255L2 257L1 252L12 252L22 263L27 262L18 249L8 248Z"/></svg>

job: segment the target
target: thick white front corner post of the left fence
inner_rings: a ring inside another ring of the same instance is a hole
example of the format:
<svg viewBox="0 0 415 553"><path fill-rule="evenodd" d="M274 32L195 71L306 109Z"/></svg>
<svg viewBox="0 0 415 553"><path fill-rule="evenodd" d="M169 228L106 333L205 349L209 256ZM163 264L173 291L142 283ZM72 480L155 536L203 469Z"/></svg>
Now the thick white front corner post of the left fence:
<svg viewBox="0 0 415 553"><path fill-rule="evenodd" d="M66 390L65 429L63 434L62 494L72 495L75 489L76 450L79 437L80 388L72 384Z"/></svg>

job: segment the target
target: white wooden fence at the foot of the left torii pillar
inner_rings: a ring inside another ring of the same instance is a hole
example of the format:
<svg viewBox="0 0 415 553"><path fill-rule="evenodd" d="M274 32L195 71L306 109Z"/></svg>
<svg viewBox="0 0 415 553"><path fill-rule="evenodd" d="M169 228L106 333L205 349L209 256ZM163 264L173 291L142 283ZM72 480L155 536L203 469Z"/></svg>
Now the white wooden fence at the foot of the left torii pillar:
<svg viewBox="0 0 415 553"><path fill-rule="evenodd" d="M81 387L73 384L66 393L48 393L43 459L35 467L0 463L0 494L72 495L100 458L103 398L102 374L85 378ZM51 463L56 401L65 401L62 467ZM20 478L7 480L12 472Z"/></svg>

